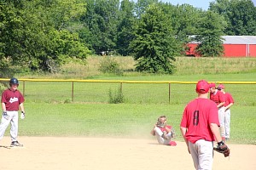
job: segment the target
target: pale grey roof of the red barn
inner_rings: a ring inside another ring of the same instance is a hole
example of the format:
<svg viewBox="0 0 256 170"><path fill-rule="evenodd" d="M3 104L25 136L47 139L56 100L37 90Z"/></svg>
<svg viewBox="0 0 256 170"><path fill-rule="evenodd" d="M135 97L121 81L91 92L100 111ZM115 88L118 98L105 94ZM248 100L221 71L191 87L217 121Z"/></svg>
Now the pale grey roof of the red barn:
<svg viewBox="0 0 256 170"><path fill-rule="evenodd" d="M256 44L256 36L223 36L224 44Z"/></svg>

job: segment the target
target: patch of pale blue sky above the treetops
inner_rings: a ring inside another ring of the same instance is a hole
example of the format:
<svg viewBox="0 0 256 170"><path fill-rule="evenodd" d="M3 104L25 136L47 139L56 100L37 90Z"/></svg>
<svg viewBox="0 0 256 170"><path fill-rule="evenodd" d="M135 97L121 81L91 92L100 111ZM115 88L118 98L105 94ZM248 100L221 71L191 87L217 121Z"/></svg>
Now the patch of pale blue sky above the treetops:
<svg viewBox="0 0 256 170"><path fill-rule="evenodd" d="M163 3L172 3L173 5L188 3L195 8L202 8L203 10L207 10L209 8L210 2L214 0L159 0ZM254 6L256 5L256 0L253 0Z"/></svg>

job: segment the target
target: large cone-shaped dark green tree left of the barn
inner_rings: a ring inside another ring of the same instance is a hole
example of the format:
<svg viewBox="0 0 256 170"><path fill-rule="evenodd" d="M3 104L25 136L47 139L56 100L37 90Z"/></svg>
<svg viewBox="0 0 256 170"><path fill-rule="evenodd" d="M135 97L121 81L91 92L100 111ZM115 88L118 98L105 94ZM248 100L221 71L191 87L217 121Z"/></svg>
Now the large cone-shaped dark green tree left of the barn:
<svg viewBox="0 0 256 170"><path fill-rule="evenodd" d="M160 5L149 5L135 28L130 46L137 60L137 71L173 73L177 42L170 23Z"/></svg>

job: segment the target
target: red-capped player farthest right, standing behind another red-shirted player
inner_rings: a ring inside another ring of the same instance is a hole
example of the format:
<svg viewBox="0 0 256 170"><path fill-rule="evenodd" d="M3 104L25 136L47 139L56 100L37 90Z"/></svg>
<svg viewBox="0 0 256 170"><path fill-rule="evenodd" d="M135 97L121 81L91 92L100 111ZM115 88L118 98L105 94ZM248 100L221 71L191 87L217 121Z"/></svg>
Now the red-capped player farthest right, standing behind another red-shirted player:
<svg viewBox="0 0 256 170"><path fill-rule="evenodd" d="M234 99L231 94L224 91L224 85L219 84L218 90L224 94L224 128L225 128L225 139L230 139L230 107L234 105Z"/></svg>

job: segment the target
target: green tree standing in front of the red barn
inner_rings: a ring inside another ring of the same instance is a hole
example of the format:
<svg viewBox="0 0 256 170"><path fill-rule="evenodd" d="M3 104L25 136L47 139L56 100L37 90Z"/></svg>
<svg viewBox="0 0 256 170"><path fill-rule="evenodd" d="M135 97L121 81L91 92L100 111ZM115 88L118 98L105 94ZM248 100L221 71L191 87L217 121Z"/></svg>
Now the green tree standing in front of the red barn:
<svg viewBox="0 0 256 170"><path fill-rule="evenodd" d="M207 11L200 21L201 32L195 37L197 42L200 42L196 47L196 53L206 57L216 57L223 54L223 30L224 19L212 11Z"/></svg>

